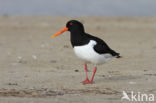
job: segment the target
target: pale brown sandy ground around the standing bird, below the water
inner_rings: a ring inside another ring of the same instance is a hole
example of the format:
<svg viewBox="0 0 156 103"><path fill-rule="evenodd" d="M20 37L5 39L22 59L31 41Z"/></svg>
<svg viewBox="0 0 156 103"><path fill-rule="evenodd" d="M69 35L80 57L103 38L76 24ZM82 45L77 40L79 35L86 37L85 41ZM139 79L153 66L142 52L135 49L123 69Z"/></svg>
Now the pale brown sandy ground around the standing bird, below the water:
<svg viewBox="0 0 156 103"><path fill-rule="evenodd" d="M92 85L80 83L69 32L50 38L70 19L123 57L98 66ZM156 18L0 17L0 103L128 103L122 91L156 99Z"/></svg>

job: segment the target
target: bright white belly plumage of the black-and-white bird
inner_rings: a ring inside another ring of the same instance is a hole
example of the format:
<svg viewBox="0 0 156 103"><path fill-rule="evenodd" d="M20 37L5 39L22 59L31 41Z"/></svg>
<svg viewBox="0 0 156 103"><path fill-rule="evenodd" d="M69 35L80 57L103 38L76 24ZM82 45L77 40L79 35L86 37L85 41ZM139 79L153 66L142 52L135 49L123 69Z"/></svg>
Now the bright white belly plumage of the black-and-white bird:
<svg viewBox="0 0 156 103"><path fill-rule="evenodd" d="M111 60L112 58L111 54L98 54L93 49L94 45L96 45L96 42L93 40L90 40L89 44L87 45L75 46L74 52L79 58L85 61L89 61L94 64L103 64Z"/></svg>

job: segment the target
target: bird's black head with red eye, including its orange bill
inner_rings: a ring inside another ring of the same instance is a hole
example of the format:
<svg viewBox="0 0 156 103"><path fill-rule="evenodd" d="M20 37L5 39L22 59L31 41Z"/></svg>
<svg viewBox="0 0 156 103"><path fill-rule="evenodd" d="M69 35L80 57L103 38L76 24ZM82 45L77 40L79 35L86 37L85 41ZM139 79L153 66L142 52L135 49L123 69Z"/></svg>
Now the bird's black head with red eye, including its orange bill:
<svg viewBox="0 0 156 103"><path fill-rule="evenodd" d="M56 34L53 34L51 37L56 37L65 31L73 32L84 32L83 24L77 20L70 20L66 23L66 27L62 29L61 31L57 32Z"/></svg>

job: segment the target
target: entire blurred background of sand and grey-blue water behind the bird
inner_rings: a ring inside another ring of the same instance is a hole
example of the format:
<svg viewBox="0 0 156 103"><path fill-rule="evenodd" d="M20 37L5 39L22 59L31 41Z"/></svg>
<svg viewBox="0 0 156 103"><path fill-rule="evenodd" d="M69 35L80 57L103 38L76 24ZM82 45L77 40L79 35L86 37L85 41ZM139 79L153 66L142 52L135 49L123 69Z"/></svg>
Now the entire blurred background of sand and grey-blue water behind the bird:
<svg viewBox="0 0 156 103"><path fill-rule="evenodd" d="M84 62L70 33L50 38L71 19L123 57L98 66L93 85L80 83ZM131 90L156 96L155 39L156 0L0 0L0 103L121 103Z"/></svg>

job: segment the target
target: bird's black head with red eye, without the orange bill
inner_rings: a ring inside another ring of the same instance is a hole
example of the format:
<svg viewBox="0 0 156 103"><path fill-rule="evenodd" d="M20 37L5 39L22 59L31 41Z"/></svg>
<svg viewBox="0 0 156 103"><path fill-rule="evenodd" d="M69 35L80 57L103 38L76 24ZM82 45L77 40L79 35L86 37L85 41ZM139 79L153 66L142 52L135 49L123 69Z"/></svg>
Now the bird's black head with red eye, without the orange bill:
<svg viewBox="0 0 156 103"><path fill-rule="evenodd" d="M68 21L66 27L70 32L84 32L83 24L77 20Z"/></svg>

